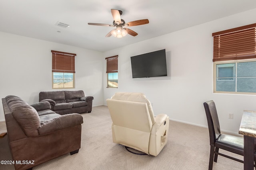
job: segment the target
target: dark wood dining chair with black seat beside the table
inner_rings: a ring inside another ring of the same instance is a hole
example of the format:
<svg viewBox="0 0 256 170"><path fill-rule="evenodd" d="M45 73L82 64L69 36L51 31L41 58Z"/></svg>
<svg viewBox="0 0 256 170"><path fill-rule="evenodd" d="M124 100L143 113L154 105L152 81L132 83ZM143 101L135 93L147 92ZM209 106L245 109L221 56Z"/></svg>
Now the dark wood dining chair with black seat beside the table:
<svg viewBox="0 0 256 170"><path fill-rule="evenodd" d="M224 149L244 156L244 138L220 133L220 123L213 100L204 102L204 109L210 135L209 170L212 170L213 161L217 162L218 155L244 163L243 160L219 153L219 149Z"/></svg>

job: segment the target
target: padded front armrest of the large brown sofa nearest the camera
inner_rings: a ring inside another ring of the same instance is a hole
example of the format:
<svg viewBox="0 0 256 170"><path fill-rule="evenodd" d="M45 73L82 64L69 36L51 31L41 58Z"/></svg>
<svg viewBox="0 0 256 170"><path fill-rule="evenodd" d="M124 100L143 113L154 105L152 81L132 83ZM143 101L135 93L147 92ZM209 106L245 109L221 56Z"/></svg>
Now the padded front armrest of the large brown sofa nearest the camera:
<svg viewBox="0 0 256 170"><path fill-rule="evenodd" d="M40 127L38 128L38 133L39 135L46 135L53 131L80 125L82 123L83 117L78 113L61 115L59 117L55 117L54 119L41 122Z"/></svg>

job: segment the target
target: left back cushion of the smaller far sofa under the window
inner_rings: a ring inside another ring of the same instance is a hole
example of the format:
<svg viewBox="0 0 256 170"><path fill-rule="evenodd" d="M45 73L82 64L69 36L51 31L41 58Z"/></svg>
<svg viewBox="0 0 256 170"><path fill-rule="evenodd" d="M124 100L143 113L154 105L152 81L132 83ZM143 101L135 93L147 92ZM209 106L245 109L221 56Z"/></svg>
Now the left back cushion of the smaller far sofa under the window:
<svg viewBox="0 0 256 170"><path fill-rule="evenodd" d="M66 97L65 97L64 91L40 92L39 93L39 102L44 99L52 99L56 103L66 102Z"/></svg>

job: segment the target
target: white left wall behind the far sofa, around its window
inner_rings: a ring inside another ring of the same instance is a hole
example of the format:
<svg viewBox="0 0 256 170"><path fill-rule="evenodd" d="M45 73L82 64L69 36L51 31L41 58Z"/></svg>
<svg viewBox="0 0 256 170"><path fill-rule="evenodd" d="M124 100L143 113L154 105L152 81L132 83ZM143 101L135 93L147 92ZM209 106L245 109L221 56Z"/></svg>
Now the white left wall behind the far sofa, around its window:
<svg viewBox="0 0 256 170"><path fill-rule="evenodd" d="M0 98L19 96L28 104L38 102L41 91L52 91L51 50L76 54L76 88L94 96L93 106L103 104L103 53L0 32ZM0 121L4 111L0 105Z"/></svg>

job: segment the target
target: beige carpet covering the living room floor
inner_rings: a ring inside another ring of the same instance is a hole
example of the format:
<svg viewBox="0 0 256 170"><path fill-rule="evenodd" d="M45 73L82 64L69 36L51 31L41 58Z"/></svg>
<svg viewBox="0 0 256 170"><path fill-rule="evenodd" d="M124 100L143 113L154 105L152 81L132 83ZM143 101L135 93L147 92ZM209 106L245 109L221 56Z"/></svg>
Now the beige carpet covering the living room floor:
<svg viewBox="0 0 256 170"><path fill-rule="evenodd" d="M156 114L156 113L155 113ZM210 154L208 129L170 121L168 143L158 156L135 155L122 145L112 143L111 118L106 106L83 113L81 149L65 154L34 170L207 170ZM1 126L0 126L1 127ZM243 159L242 156L220 150ZM10 160L7 136L0 139L0 160ZM13 170L12 165L0 165ZM243 164L219 156L214 170L242 170Z"/></svg>

